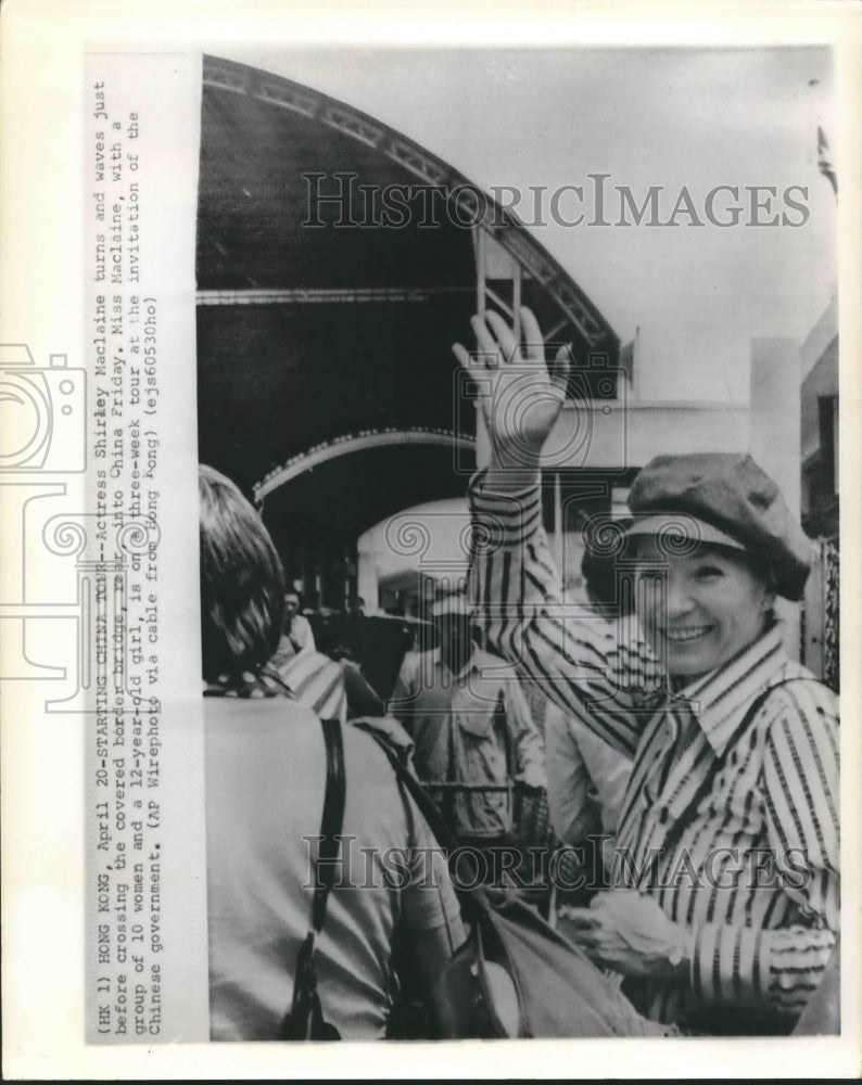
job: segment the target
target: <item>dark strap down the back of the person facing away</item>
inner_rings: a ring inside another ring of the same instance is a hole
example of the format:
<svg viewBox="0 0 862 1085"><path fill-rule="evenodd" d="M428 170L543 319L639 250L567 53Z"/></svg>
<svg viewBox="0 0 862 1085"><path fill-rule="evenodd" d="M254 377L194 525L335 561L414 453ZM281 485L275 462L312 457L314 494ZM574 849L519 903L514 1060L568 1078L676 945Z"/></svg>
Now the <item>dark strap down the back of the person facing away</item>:
<svg viewBox="0 0 862 1085"><path fill-rule="evenodd" d="M324 929L327 901L335 881L335 866L344 824L346 777L344 775L344 737L339 719L321 719L326 742L327 781L324 813L320 818L320 846L315 859L312 926L296 958L291 1008L284 1014L279 1039L340 1039L338 1030L324 1019L317 993L317 935Z"/></svg>

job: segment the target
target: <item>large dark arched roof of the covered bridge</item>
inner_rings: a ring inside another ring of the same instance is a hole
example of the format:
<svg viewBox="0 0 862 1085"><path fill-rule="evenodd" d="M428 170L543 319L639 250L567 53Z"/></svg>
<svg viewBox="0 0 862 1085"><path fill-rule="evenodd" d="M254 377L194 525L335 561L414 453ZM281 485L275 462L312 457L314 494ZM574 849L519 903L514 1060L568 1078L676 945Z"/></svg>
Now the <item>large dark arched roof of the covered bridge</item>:
<svg viewBox="0 0 862 1085"><path fill-rule="evenodd" d="M380 196L393 186L400 225ZM268 522L345 542L464 493L452 468L472 465L474 412L451 344L477 308L529 304L573 344L579 387L592 357L618 356L584 291L456 169L347 103L211 56L197 264L201 459ZM593 393L612 395L601 375Z"/></svg>

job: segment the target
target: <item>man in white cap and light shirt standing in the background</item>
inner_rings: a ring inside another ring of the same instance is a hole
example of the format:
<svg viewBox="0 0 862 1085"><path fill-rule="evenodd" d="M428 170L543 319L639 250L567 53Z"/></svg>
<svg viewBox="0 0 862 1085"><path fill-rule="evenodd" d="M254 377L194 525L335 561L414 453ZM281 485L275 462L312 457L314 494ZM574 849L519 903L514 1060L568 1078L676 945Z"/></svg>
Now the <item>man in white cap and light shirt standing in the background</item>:
<svg viewBox="0 0 862 1085"><path fill-rule="evenodd" d="M420 779L504 788L512 777L544 788L542 737L515 668L474 640L467 597L452 592L432 607L439 647L410 652L398 674L389 713L414 740ZM465 850L477 853L465 878L496 881L499 848L511 843L511 809L504 790L433 792ZM496 851L495 851L496 850ZM496 864L496 865L495 865Z"/></svg>

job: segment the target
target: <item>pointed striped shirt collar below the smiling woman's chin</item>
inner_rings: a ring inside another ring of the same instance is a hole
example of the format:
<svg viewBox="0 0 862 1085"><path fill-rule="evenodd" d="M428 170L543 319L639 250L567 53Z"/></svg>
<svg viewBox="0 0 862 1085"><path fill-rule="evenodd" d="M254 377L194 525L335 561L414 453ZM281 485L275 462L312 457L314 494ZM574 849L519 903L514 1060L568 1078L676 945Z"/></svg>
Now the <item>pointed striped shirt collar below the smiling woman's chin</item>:
<svg viewBox="0 0 862 1085"><path fill-rule="evenodd" d="M718 756L724 753L755 695L779 681L788 662L781 628L774 625L718 671L680 691L677 697L689 703Z"/></svg>

